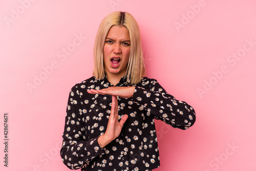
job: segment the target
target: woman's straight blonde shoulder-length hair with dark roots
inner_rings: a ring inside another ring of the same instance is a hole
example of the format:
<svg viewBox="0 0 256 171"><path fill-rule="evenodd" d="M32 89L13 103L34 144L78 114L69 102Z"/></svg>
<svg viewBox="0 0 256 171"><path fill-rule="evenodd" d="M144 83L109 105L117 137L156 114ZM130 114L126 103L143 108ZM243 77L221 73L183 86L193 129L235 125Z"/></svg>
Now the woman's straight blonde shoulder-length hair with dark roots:
<svg viewBox="0 0 256 171"><path fill-rule="evenodd" d="M94 45L94 72L96 79L105 77L103 48L106 35L112 26L124 26L130 34L131 51L129 62L127 64L126 84L134 85L141 81L145 74L145 65L143 60L143 52L141 47L139 26L134 17L127 12L113 12L107 15L101 22ZM130 81L130 82L129 82Z"/></svg>

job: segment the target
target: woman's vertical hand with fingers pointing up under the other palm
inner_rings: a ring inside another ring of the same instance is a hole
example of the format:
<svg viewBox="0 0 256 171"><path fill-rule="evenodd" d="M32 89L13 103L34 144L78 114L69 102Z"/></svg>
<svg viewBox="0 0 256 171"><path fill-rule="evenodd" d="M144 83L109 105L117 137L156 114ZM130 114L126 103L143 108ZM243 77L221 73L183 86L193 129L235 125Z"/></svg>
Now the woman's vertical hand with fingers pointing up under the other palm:
<svg viewBox="0 0 256 171"><path fill-rule="evenodd" d="M127 118L128 115L124 115L120 122L118 122L118 101L116 96L112 96L111 113L106 132L98 138L98 143L101 148L120 135L122 126Z"/></svg>

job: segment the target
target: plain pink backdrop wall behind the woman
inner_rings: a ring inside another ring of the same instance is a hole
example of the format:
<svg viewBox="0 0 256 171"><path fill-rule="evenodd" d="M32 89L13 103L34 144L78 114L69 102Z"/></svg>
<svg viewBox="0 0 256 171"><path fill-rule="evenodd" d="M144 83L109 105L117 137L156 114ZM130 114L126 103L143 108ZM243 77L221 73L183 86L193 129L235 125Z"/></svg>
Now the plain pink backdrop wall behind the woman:
<svg viewBox="0 0 256 171"><path fill-rule="evenodd" d="M69 170L59 155L69 91L92 75L101 20L121 10L140 26L146 76L197 114L187 131L157 121L155 170L256 170L255 7L254 0L1 1L0 169Z"/></svg>

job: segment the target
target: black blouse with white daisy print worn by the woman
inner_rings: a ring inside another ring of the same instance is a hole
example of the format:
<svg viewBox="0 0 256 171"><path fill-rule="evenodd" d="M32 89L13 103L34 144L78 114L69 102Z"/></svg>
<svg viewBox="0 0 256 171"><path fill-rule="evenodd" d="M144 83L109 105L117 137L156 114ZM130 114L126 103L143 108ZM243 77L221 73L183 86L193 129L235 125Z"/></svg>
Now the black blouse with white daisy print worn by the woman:
<svg viewBox="0 0 256 171"><path fill-rule="evenodd" d="M116 86L127 86L126 77ZM77 83L70 91L63 144L62 161L70 169L120 171L151 170L160 166L154 119L175 128L188 129L195 123L195 111L184 101L169 95L155 79L144 77L135 84L131 98L118 97L119 120L129 117L115 140L101 148L111 112L111 95L89 94L88 89L113 86L106 77L94 76Z"/></svg>

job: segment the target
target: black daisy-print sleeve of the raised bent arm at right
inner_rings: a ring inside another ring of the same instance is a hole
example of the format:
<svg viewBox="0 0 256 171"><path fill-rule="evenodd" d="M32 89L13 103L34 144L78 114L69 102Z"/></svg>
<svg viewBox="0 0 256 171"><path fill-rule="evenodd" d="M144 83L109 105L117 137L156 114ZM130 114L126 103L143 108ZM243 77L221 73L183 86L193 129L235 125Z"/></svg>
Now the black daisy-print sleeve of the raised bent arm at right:
<svg viewBox="0 0 256 171"><path fill-rule="evenodd" d="M136 86L133 101L142 104L146 115L153 114L175 128L188 129L196 121L194 109L168 94L155 79L146 79L143 87Z"/></svg>

